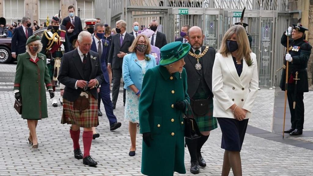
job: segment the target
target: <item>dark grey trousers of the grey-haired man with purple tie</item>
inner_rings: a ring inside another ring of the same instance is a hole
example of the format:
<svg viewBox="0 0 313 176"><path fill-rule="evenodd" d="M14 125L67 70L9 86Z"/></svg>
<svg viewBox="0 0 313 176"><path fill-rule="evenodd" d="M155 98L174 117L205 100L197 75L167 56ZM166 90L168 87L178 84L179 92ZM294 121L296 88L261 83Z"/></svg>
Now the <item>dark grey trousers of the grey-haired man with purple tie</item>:
<svg viewBox="0 0 313 176"><path fill-rule="evenodd" d="M112 69L113 72L113 87L112 87L112 104L116 105L118 94L120 92L122 68ZM124 85L124 82L123 82ZM126 100L126 89L123 90L123 102Z"/></svg>

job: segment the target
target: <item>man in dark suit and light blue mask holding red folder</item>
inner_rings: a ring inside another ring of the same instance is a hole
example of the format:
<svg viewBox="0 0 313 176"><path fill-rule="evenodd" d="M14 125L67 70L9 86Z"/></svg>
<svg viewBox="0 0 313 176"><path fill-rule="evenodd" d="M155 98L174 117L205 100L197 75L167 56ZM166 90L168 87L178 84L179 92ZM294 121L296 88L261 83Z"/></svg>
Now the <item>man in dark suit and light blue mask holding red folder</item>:
<svg viewBox="0 0 313 176"><path fill-rule="evenodd" d="M69 16L63 19L62 25L66 26L67 23L72 23L74 25L74 29L70 28L66 31L66 34L70 39L73 35L79 34L81 31L83 31L83 26L81 24L80 18L78 16L74 16L74 6L68 7L68 13ZM73 50L74 48L70 46L70 49Z"/></svg>

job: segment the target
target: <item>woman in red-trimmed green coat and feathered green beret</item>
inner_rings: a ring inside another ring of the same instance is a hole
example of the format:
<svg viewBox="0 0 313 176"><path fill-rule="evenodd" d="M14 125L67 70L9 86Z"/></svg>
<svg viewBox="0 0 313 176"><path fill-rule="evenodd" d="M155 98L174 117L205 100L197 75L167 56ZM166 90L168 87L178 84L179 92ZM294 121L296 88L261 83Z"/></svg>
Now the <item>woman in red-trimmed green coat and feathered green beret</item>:
<svg viewBox="0 0 313 176"><path fill-rule="evenodd" d="M46 56L39 53L41 49L42 44L38 35L32 35L27 39L26 52L18 54L14 81L15 98L22 103L22 118L27 119L28 142L33 145L32 148L38 148L36 135L38 120L48 117L45 87L50 98L54 97Z"/></svg>

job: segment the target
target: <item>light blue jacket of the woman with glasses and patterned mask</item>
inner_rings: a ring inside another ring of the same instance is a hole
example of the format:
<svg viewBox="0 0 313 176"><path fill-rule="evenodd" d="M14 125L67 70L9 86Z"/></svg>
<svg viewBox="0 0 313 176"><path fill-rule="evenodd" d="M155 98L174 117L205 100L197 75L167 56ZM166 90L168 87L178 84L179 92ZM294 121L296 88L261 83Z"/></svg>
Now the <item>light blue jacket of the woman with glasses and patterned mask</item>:
<svg viewBox="0 0 313 176"><path fill-rule="evenodd" d="M151 54L146 54L151 59L147 62L146 70L156 66L156 59ZM123 59L123 81L124 89L130 89L128 86L135 85L141 91L142 86L142 69L137 59L136 53L130 53Z"/></svg>

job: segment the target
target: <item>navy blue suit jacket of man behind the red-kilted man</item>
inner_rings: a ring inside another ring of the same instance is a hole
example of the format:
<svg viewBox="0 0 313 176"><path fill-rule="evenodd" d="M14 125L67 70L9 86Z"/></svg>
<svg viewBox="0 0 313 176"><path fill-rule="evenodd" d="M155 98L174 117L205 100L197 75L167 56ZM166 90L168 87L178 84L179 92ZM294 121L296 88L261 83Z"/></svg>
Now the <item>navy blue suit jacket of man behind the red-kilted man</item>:
<svg viewBox="0 0 313 176"><path fill-rule="evenodd" d="M92 39L94 39L94 38L92 38ZM108 44L108 46L104 46L105 42ZM98 45L95 43L95 40L93 40L90 50L95 51L97 53L98 52L97 48L98 48ZM104 82L108 83L108 84L110 83L109 73L107 70L107 61L108 61L109 49L110 49L110 42L105 40L105 39L102 39L102 54L101 54L101 58L100 58L101 70L102 70L102 74L104 77Z"/></svg>

